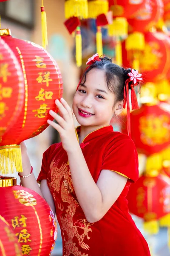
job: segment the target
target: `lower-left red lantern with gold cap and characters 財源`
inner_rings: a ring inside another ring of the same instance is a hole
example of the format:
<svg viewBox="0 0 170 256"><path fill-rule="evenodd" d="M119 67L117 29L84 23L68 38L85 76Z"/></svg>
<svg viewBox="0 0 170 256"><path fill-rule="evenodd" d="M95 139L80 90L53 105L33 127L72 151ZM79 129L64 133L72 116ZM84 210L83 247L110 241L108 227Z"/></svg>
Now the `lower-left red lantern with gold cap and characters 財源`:
<svg viewBox="0 0 170 256"><path fill-rule="evenodd" d="M0 215L6 219L23 255L50 255L57 224L46 201L31 189L16 185L16 178L0 177Z"/></svg>

